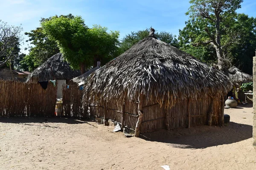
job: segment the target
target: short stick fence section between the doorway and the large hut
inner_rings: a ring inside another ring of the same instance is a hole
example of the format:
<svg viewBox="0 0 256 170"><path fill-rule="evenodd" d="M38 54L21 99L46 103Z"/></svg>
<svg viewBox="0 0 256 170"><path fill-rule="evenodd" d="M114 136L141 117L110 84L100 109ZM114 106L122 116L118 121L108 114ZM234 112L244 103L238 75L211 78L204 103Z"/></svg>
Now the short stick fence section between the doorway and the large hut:
<svg viewBox="0 0 256 170"><path fill-rule="evenodd" d="M67 117L84 117L87 114L87 105L83 107L82 98L83 91L79 90L77 85L69 85L64 87L63 91L63 107Z"/></svg>

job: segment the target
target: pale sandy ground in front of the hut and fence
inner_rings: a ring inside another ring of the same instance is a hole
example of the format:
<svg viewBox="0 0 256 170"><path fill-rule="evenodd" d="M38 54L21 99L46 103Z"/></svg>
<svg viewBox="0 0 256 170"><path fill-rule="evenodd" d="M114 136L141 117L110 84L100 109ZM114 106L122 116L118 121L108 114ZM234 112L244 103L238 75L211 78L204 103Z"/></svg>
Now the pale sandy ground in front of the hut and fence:
<svg viewBox="0 0 256 170"><path fill-rule="evenodd" d="M248 105L225 109L231 122L222 128L141 138L74 119L0 118L0 170L256 170L252 111Z"/></svg>

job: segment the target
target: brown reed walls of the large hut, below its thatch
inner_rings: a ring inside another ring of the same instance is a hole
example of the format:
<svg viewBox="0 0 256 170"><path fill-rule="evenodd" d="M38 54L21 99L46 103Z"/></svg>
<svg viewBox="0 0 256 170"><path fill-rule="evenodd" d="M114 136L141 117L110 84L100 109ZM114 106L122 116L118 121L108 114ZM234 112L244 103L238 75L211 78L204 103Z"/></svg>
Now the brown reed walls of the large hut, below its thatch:
<svg viewBox="0 0 256 170"><path fill-rule="evenodd" d="M219 125L224 107L224 103L220 99L186 99L176 102L172 108L160 107L158 103L143 103L140 132L207 125L211 105L213 110L212 125ZM119 122L122 127L135 130L138 120L137 109L137 102L127 101L120 104L118 100L113 99L106 104L107 113L104 104L101 103L91 104L90 114L104 119L106 113L107 119Z"/></svg>

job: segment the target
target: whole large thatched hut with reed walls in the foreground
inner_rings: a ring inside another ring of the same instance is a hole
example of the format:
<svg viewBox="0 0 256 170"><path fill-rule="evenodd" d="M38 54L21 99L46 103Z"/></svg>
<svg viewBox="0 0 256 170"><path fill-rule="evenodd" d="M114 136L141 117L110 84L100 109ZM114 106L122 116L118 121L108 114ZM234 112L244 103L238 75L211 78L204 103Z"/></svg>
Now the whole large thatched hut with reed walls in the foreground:
<svg viewBox="0 0 256 170"><path fill-rule="evenodd" d="M220 71L157 40L151 29L148 37L88 77L84 102L91 103L91 114L104 117L105 124L111 119L138 136L222 125L224 95L231 85Z"/></svg>

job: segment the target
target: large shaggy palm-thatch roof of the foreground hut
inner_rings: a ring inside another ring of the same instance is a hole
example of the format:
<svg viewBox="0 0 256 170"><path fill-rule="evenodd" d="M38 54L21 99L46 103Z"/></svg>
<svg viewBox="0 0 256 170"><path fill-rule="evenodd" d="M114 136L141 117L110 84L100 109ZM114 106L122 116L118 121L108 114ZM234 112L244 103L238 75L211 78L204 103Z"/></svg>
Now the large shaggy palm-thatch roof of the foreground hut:
<svg viewBox="0 0 256 170"><path fill-rule="evenodd" d="M138 101L144 94L173 105L177 99L223 96L231 84L220 71L151 34L91 74L84 93L94 101Z"/></svg>

